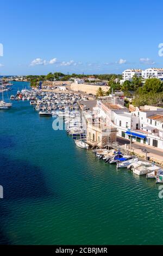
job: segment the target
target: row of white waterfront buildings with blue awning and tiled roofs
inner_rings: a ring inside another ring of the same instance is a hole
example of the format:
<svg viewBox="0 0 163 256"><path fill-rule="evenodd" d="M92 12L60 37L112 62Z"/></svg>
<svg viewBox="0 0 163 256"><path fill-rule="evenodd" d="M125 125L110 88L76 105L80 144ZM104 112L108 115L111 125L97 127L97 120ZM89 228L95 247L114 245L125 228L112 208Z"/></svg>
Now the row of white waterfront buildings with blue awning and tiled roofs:
<svg viewBox="0 0 163 256"><path fill-rule="evenodd" d="M101 120L118 130L117 136L163 149L163 110L153 106L138 108L134 112L121 105L121 102L97 102Z"/></svg>

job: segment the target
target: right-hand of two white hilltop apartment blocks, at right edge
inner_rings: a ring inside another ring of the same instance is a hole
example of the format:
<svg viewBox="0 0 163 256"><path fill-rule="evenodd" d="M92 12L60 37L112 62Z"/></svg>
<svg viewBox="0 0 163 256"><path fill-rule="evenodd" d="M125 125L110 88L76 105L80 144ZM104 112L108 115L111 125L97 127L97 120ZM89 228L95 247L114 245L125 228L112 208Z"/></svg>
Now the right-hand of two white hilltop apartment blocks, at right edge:
<svg viewBox="0 0 163 256"><path fill-rule="evenodd" d="M163 80L163 68L148 68L142 70L142 79L158 78Z"/></svg>

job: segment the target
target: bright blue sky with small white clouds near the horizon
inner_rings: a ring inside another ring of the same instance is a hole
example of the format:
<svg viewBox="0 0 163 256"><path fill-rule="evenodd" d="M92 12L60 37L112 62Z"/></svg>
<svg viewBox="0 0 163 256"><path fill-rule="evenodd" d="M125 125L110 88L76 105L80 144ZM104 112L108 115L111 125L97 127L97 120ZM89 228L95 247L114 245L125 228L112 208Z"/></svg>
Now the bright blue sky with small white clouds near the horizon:
<svg viewBox="0 0 163 256"><path fill-rule="evenodd" d="M163 67L162 0L2 0L0 74Z"/></svg>

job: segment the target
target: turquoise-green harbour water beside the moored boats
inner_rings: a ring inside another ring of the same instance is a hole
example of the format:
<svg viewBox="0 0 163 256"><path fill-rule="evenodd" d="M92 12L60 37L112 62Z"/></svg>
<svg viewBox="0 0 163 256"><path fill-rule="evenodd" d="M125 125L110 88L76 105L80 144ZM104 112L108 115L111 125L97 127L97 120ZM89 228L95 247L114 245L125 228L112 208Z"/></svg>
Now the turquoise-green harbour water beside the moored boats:
<svg viewBox="0 0 163 256"><path fill-rule="evenodd" d="M14 82L15 90L22 85ZM1 244L163 243L163 199L154 180L78 148L29 102L13 105L0 111Z"/></svg>

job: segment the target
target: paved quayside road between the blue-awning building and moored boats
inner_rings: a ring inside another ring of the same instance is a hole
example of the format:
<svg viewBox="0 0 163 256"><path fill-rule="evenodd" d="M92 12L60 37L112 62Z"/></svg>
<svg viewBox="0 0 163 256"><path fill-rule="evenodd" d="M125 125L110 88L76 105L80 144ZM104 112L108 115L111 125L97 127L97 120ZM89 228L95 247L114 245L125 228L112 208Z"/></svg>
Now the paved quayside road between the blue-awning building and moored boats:
<svg viewBox="0 0 163 256"><path fill-rule="evenodd" d="M130 141L121 137L117 137L117 141L119 142L120 145L124 145L124 144L130 144ZM151 153L151 154L156 154L160 157L162 157L163 159L163 150L160 150L158 148L152 147L152 146L148 146L148 145L143 145L140 143L136 143L133 142L131 145L131 148L137 148L137 149L142 149L142 148L146 148L146 150Z"/></svg>

